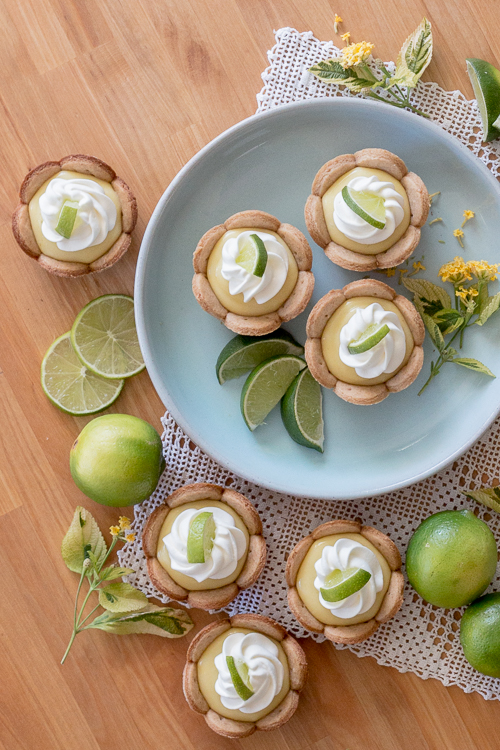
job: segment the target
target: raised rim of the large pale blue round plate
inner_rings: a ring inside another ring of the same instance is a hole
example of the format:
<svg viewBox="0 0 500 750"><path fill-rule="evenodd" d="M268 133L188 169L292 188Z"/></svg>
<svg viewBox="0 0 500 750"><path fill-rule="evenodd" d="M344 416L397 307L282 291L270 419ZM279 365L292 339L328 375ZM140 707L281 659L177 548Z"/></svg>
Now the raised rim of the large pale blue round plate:
<svg viewBox="0 0 500 750"><path fill-rule="evenodd" d="M272 119L273 117L282 117L286 116L287 112L293 111L295 109L307 109L307 108L315 108L315 107L338 107L338 106L354 106L360 107L361 109L373 109L374 107L377 109L380 109L381 107L386 109L386 104L382 104L381 102L371 102L367 101L366 99L358 99L355 97L324 97L321 99L304 99L297 102L290 102L289 104L283 104L279 105L277 107L273 107L270 110L266 110L265 112L258 112L256 114L250 115L249 117L246 117L245 119L235 123L234 125L231 125L229 128L224 130L222 133L217 135L215 138L213 138L211 141L209 141L205 146L203 146L196 154L194 154L191 159L179 170L179 172L175 175L175 177L172 179L172 181L169 183L163 194L161 195L160 199L158 200L158 203L156 204L153 213L151 214L151 217L147 223L144 236L142 238L141 246L139 249L139 255L137 258L137 265L136 265L136 271L135 271L135 281L134 281L134 300L135 300L135 320L136 320L136 327L137 327L137 333L139 337L139 344L142 351L142 355L144 358L144 362L146 364L146 369L148 371L149 377L151 378L151 382L153 384L153 387L155 391L157 392L158 396L160 397L160 400L162 401L164 407L167 409L167 411L172 415L175 422L179 425L179 427L186 433L186 435L189 437L190 440L192 440L195 445L200 448L204 453L206 453L212 460L214 460L216 463L218 463L220 466L222 466L227 471L231 471L232 473L236 474L238 477L241 477L242 479L252 483L259 485L260 487L264 487L268 490L272 490L273 492L279 492L281 494L285 494L288 496L293 496L293 492L290 492L288 488L283 488L283 486L278 482L275 483L272 480L269 480L267 477L263 478L260 476L250 475L247 474L243 468L238 466L236 463L233 463L230 459L221 456L219 454L219 451L217 448L214 448L210 443L208 443L203 437L198 435L198 432L195 428L193 428L190 424L187 423L187 421L184 419L183 415L177 408L177 405L175 404L175 401L170 397L170 394L168 392L168 388L164 385L163 379L161 377L161 374L158 370L158 368L155 365L154 358L152 356L152 347L149 343L149 336L148 331L145 323L145 315L144 315L144 303L145 303L145 296L144 296L144 286L145 286L145 275L146 275L146 267L148 262L148 255L150 253L151 247L152 247L152 237L154 235L155 229L156 229L156 223L165 210L166 206L168 205L168 202L173 197L174 193L176 192L179 185L182 183L184 178L191 170L193 170L197 164L202 161L207 154L209 154L212 150L216 149L221 142L226 140L227 138L231 137L234 133L237 133L240 130L245 130L248 127L252 126L252 123L254 123L256 120L263 120L263 119ZM400 118L403 120L408 120L408 118L411 118L411 121L414 121L415 117L418 117L420 120L420 125L424 128L428 128L431 131L434 132L434 134L438 135L440 138L443 138L445 141L452 143L455 148L458 147L460 151L466 156L465 158L468 159L471 163L471 165L474 165L476 168L480 165L480 168L482 168L483 172L488 175L489 180L491 182L492 187L497 191L500 192L500 185L498 184L498 181L495 179L494 175L490 172L490 170L487 168L487 166L484 164L484 162L481 161L475 154L470 151L470 149L467 148L463 143L461 143L457 138L450 135L450 133L447 133L445 130L443 130L438 124L433 122L432 120L427 120L423 117L420 117L413 112L409 112L402 109L394 109L391 113L394 117ZM500 196L499 196L500 197ZM400 489L404 489L406 487L409 487L413 484L416 484L417 482L421 482L437 472L441 471L442 469L445 469L447 466L449 466L453 461L455 461L457 458L462 456L469 448L471 448L474 443L476 443L481 435L483 435L486 430L491 426L491 424L495 421L497 416L500 414L500 404L498 405L498 408L492 412L490 417L486 419L483 424L474 432L474 434L469 437L459 448L457 448L450 456L441 459L437 461L436 463L433 463L430 467L427 467L425 470L417 472L415 474L412 474L410 477L407 477L404 480L399 480L397 482L393 483L387 483L380 487L374 487L370 488L369 490L366 490L362 493L356 493L355 495L325 495L323 493L314 493L311 492L311 494L305 495L304 493L301 493L301 497L309 497L312 499L318 499L318 500L356 500L356 499L362 499L362 498L368 498L368 497L374 497L377 495L383 495L390 492L395 492Z"/></svg>

